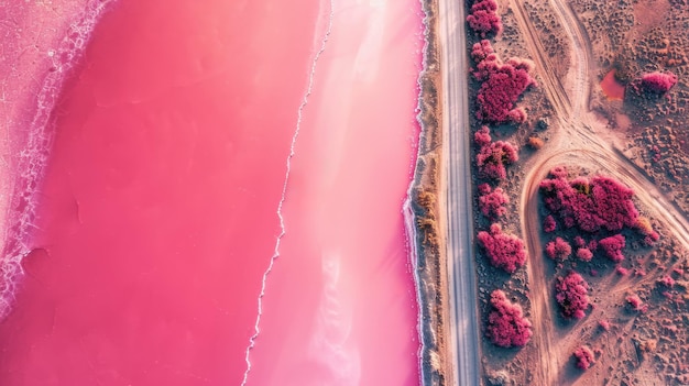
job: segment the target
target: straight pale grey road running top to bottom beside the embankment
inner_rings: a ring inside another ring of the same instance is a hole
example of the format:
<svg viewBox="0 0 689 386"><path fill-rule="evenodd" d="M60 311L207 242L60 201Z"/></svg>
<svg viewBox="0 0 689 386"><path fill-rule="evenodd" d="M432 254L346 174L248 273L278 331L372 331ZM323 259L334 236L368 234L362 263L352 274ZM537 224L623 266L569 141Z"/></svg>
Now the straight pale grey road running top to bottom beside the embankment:
<svg viewBox="0 0 689 386"><path fill-rule="evenodd" d="M479 385L479 323L473 262L471 152L469 148L468 66L464 2L439 0L442 68L450 349L455 371L448 384Z"/></svg>

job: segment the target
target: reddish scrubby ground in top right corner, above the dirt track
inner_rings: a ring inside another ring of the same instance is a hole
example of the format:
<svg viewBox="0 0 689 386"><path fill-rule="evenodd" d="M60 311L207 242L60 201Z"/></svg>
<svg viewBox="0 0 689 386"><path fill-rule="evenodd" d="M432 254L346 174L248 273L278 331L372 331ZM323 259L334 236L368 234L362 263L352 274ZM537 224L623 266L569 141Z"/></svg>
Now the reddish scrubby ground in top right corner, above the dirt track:
<svg viewBox="0 0 689 386"><path fill-rule="evenodd" d="M622 85L644 74L675 74L667 93L636 92L624 102L599 93L593 107L619 130L624 154L685 212L689 212L689 4L683 0L575 0L598 59L599 77L612 68ZM625 123L620 123L620 119Z"/></svg>

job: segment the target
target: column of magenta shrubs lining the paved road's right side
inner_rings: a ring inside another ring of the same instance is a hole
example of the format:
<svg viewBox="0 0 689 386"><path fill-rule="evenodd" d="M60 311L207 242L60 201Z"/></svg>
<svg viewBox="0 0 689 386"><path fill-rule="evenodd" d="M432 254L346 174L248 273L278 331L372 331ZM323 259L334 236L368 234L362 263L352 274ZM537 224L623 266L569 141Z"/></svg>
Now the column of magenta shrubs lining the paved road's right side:
<svg viewBox="0 0 689 386"><path fill-rule="evenodd" d="M497 126L504 129L504 125L517 128L527 121L526 109L517 102L524 92L537 86L532 76L534 64L518 57L503 62L493 49L490 38L503 29L495 1L477 0L469 2L467 9L467 24L471 30L467 40L473 62L470 77L475 87L475 99L470 101L473 106L472 124L467 124L474 129L470 136L475 166L471 169L478 184L467 188L474 195L474 213L478 216L474 219L482 228L477 234L482 257L475 261L481 271L485 271L488 262L507 275L515 275L527 264L528 254L520 236L503 230L507 229L505 225L511 225L508 219L503 218L506 212L504 206L511 202L511 198L502 186L506 183L510 165L520 161L520 147L506 139L494 141L492 131ZM504 135L504 130L499 135ZM518 300L507 300L514 298L514 288L496 277L491 277L491 280L496 280L490 286L491 299L481 299L490 304L486 315L481 318L485 323L482 330L490 343L497 348L526 345L533 335L532 323L523 315ZM485 370L482 375L493 378L493 374L488 374Z"/></svg>

